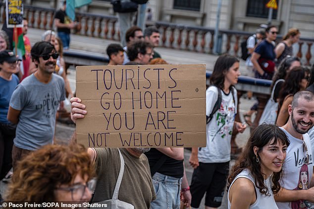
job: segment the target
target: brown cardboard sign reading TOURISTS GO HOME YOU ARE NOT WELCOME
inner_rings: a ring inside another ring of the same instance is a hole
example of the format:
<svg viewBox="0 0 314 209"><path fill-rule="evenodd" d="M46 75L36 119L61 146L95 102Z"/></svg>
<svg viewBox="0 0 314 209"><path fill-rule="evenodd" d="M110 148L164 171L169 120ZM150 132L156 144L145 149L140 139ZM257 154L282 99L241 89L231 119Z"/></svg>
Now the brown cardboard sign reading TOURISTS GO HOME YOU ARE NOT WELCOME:
<svg viewBox="0 0 314 209"><path fill-rule="evenodd" d="M206 146L205 65L76 67L87 147Z"/></svg>

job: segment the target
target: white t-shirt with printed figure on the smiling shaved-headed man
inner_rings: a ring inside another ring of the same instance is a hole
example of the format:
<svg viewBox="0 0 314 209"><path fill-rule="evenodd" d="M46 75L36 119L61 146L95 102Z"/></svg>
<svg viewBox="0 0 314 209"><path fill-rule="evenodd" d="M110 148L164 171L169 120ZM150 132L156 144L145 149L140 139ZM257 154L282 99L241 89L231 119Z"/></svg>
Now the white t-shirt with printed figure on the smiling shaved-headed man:
<svg viewBox="0 0 314 209"><path fill-rule="evenodd" d="M303 134L303 140L293 137L284 128L290 145L287 148L287 156L283 164L281 186L289 190L308 189L313 174L313 154L309 134ZM305 146L306 145L306 146ZM308 151L306 151L308 150ZM309 155L309 163L306 160ZM308 163L308 165L307 165ZM303 201L277 203L279 209L306 208Z"/></svg>

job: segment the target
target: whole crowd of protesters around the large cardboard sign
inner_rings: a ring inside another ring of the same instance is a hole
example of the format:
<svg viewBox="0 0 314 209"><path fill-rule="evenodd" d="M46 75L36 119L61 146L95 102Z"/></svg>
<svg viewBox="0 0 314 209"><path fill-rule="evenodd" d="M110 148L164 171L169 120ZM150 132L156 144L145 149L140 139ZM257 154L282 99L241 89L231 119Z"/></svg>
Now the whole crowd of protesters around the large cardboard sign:
<svg viewBox="0 0 314 209"><path fill-rule="evenodd" d="M277 45L275 26L261 27L247 40L246 65L255 78L272 80L277 117L255 128L231 169L232 133L250 125L257 105L246 114L247 124L235 121L240 60L228 54L217 58L206 90L207 145L192 148L189 185L181 147L86 149L76 143L76 133L69 145L53 142L66 97L73 123L88 111L66 76L63 49L70 46L75 23L65 7L54 16L57 33L46 31L32 47L24 19L27 50L22 58L0 31L0 180L11 175L0 201L179 209L199 208L205 196L205 208L215 209L225 193L229 209L303 209L314 202L314 69L293 57L298 29L290 29ZM160 32L155 26L131 26L123 34L125 45L106 48L108 65L168 64L156 51Z"/></svg>

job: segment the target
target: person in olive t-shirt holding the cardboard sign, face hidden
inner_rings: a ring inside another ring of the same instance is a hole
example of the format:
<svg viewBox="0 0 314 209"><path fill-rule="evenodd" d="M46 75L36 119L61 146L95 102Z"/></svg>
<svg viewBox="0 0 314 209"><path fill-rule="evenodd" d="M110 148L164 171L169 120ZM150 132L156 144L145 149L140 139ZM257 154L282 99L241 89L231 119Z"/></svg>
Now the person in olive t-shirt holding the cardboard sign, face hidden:
<svg viewBox="0 0 314 209"><path fill-rule="evenodd" d="M77 97L72 97L70 101L71 119L76 123L77 119L84 118L87 114L86 106ZM76 132L72 141L76 141ZM151 202L156 199L148 159L143 154L149 150L150 148L88 148L87 152L95 164L97 174L92 203L105 204L104 201L118 198L123 202L123 205L119 205L121 208L131 209L134 206L134 209L149 209ZM118 177L121 157L124 161L122 179ZM119 180L121 184L117 191L115 187ZM117 197L114 197L115 193L118 194Z"/></svg>

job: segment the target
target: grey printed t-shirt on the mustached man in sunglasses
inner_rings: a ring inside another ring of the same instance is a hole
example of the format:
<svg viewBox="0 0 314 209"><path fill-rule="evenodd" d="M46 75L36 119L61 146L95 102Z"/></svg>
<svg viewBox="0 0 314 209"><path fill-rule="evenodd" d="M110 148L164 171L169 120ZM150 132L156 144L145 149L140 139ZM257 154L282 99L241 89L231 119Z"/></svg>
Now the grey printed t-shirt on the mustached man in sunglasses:
<svg viewBox="0 0 314 209"><path fill-rule="evenodd" d="M38 81L34 74L18 84L10 100L10 106L21 111L14 145L36 150L52 144L56 111L64 99L64 81L55 74L48 84Z"/></svg>

